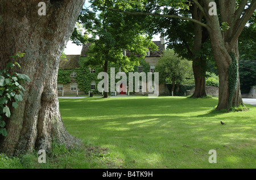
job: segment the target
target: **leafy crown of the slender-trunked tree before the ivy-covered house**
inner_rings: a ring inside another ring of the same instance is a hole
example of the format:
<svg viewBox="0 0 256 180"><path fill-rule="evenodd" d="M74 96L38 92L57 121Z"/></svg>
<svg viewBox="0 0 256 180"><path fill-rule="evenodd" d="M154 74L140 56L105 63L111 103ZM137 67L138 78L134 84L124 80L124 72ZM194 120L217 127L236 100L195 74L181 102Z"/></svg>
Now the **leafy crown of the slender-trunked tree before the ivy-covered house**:
<svg viewBox="0 0 256 180"><path fill-rule="evenodd" d="M93 6L93 5L92 5ZM145 36L141 27L137 26L133 18L119 12L83 9L79 16L79 22L84 24L92 37L88 38L89 51L85 52L85 66L102 65L104 72L108 73L109 62L119 64L122 70L132 70L139 64L139 57L146 56L146 51L151 48L157 50L152 43L151 36ZM124 52L129 52L125 56ZM104 98L108 92L104 92Z"/></svg>

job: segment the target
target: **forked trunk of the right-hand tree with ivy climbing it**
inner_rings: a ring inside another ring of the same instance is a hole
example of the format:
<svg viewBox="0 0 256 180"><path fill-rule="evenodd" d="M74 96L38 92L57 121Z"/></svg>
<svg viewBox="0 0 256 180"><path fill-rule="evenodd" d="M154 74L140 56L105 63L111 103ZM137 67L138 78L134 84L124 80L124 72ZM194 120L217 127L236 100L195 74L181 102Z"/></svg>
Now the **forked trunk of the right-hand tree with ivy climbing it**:
<svg viewBox="0 0 256 180"><path fill-rule="evenodd" d="M209 9L210 2L204 1L205 9ZM206 14L213 56L220 77L217 110L230 110L243 104L238 73L238 37L255 11L256 1L253 0L247 10L247 1L241 1L238 9L236 3L235 0L219 1L220 19L217 15Z"/></svg>

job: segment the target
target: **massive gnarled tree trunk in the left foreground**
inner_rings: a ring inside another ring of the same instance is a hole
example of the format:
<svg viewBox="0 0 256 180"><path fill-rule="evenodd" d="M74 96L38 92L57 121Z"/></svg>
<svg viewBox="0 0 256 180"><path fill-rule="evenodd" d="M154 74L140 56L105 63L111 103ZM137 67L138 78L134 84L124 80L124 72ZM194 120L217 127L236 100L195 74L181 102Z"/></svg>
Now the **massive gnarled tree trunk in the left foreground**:
<svg viewBox="0 0 256 180"><path fill-rule="evenodd" d="M0 68L20 51L21 72L31 78L23 87L24 100L5 119L7 137L0 151L8 155L50 150L53 140L67 148L81 141L66 131L57 99L57 71L61 52L71 36L84 0L46 1L46 15L38 15L40 1L0 2Z"/></svg>

